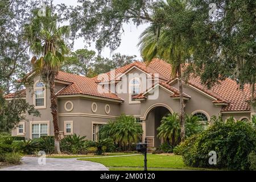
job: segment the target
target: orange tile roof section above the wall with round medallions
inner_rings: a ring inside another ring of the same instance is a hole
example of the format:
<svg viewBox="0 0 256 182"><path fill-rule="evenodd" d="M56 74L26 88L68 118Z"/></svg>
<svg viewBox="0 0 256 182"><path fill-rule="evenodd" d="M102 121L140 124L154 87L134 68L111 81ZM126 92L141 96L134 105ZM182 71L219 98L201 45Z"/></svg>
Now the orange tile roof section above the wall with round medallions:
<svg viewBox="0 0 256 182"><path fill-rule="evenodd" d="M73 75L60 71L56 79L72 82L72 84L60 90L60 92L57 93L57 96L84 94L87 96L96 96L122 101L122 98L118 97L117 94L114 94L112 92L109 92L109 90L102 88L100 85L96 84L96 82L92 78Z"/></svg>

